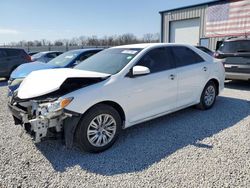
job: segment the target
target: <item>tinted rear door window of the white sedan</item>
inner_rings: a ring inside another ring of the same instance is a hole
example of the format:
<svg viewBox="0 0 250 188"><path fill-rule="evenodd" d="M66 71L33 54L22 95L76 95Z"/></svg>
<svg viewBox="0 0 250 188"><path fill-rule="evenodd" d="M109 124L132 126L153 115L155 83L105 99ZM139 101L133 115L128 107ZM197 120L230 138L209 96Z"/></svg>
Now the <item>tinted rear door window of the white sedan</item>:
<svg viewBox="0 0 250 188"><path fill-rule="evenodd" d="M204 61L202 57L187 47L175 46L173 47L173 54L177 60L177 67L193 65Z"/></svg>

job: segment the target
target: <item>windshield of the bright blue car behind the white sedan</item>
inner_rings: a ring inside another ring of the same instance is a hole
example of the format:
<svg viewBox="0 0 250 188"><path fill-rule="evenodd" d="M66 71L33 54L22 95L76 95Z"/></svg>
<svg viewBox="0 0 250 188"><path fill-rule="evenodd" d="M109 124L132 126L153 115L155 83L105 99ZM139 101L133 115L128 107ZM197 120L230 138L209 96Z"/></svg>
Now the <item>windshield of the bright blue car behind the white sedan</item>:
<svg viewBox="0 0 250 188"><path fill-rule="evenodd" d="M48 62L49 65L55 65L58 67L66 67L70 64L73 60L75 60L81 52L77 51L69 51L65 52L56 58L52 59Z"/></svg>

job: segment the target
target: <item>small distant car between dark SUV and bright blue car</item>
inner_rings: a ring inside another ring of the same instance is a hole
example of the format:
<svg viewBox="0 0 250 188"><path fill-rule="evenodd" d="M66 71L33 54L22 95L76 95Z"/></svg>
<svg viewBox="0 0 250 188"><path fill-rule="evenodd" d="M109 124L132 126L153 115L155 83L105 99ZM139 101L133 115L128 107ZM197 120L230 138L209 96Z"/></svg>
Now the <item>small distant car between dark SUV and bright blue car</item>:
<svg viewBox="0 0 250 188"><path fill-rule="evenodd" d="M48 51L48 52L39 52L31 56L32 61L40 61L47 63L55 57L61 55L63 52L59 51Z"/></svg>

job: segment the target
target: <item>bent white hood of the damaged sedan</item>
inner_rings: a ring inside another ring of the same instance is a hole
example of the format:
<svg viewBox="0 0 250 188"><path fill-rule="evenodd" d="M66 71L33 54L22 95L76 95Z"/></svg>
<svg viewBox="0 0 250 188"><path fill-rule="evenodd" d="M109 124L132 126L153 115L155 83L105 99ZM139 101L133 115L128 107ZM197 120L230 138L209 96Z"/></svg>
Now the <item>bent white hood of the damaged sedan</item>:
<svg viewBox="0 0 250 188"><path fill-rule="evenodd" d="M36 98L57 91L68 79L107 78L109 74L77 69L51 69L34 71L21 83L17 97L19 99Z"/></svg>

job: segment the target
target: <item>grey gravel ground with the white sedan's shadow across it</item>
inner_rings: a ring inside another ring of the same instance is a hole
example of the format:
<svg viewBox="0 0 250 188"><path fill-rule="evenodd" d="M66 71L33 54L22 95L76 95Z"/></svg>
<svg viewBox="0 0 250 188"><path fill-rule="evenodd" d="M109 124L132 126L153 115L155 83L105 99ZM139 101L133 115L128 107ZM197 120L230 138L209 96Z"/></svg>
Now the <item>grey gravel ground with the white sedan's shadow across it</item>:
<svg viewBox="0 0 250 188"><path fill-rule="evenodd" d="M250 84L227 83L213 109L134 126L101 154L34 145L0 82L0 187L250 187Z"/></svg>

